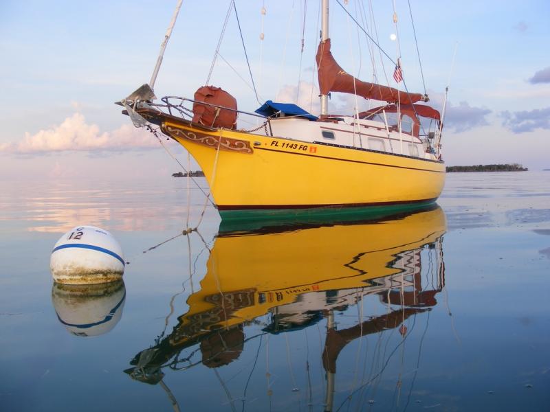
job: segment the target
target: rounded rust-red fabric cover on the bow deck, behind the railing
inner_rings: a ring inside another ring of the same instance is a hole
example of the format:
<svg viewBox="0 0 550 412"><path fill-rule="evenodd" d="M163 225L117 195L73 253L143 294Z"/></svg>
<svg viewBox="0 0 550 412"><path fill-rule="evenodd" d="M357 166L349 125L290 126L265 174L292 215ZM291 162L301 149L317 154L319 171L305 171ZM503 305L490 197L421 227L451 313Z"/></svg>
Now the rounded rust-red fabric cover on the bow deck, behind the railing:
<svg viewBox="0 0 550 412"><path fill-rule="evenodd" d="M213 128L236 128L236 100L227 91L219 87L203 86L195 91L194 100L193 123ZM215 106L222 106L233 110L226 110Z"/></svg>

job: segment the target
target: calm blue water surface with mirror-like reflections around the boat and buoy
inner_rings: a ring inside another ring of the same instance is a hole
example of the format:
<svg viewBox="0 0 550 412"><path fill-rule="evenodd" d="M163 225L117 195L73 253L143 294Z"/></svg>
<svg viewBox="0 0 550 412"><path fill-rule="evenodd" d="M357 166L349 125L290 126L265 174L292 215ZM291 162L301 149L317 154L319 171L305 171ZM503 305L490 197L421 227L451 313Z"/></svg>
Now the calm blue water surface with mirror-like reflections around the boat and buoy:
<svg viewBox="0 0 550 412"><path fill-rule="evenodd" d="M256 231L186 183L0 183L1 411L550 410L550 172ZM76 225L124 283L54 284Z"/></svg>

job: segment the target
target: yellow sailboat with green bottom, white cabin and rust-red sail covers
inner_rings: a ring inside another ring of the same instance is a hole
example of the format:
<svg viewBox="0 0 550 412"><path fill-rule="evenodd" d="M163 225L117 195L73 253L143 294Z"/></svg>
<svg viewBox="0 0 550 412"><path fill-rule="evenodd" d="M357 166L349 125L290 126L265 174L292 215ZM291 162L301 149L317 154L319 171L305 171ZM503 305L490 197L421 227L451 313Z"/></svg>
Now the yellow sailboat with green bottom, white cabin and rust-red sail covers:
<svg viewBox="0 0 550 412"><path fill-rule="evenodd" d="M322 0L316 54L318 116L272 100L255 113L239 111L230 93L211 85L200 87L193 98L155 100L153 85L179 5L150 84L119 104L135 126L162 133L188 150L222 219L399 211L437 200L445 181L441 114L423 104L426 94L364 82L338 65L329 38L329 0ZM393 63L395 81L404 81L400 60ZM332 115L330 93L385 103L354 115ZM255 115L259 127L239 128L238 116L245 114Z"/></svg>

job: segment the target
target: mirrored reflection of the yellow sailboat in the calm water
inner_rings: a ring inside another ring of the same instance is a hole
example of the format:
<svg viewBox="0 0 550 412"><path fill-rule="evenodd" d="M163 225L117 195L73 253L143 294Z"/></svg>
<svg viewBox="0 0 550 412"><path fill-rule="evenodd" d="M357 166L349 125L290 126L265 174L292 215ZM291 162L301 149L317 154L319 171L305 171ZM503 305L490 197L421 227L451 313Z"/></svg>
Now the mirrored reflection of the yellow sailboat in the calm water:
<svg viewBox="0 0 550 412"><path fill-rule="evenodd" d="M177 407L162 382L163 368L228 365L251 339L304 330L322 321L327 332L317 356L326 389L322 399L310 396L309 403L331 410L342 349L360 336L384 330L396 330L405 339L407 319L437 304L435 296L444 286L445 228L445 215L436 206L368 222L221 232L201 289L187 299L188 312L168 336L137 354L126 373L142 382L160 382ZM375 298L377 308L363 314L367 295ZM355 321L342 328L349 317ZM267 339L260 339L265 346ZM285 358L272 363L284 364ZM269 380L269 371L262 376Z"/></svg>

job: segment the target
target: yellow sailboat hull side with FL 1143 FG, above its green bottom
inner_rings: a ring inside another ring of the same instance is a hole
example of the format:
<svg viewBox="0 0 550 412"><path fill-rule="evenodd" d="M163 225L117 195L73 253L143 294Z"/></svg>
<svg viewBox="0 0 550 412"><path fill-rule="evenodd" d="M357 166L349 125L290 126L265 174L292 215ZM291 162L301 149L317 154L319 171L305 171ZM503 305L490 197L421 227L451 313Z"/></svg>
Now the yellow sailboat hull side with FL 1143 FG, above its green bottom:
<svg viewBox="0 0 550 412"><path fill-rule="evenodd" d="M203 170L220 211L434 202L445 165L371 150L165 121Z"/></svg>

